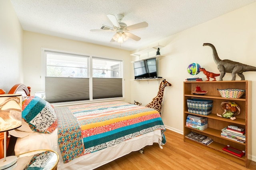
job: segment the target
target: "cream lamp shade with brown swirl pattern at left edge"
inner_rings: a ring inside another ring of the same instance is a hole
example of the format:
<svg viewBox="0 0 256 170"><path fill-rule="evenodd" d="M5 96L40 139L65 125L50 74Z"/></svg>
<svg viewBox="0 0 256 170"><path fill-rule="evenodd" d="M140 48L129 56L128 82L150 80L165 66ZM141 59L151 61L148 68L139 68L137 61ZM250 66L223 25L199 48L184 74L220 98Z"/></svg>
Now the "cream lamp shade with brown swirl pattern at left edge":
<svg viewBox="0 0 256 170"><path fill-rule="evenodd" d="M10 131L21 126L21 94L0 95L0 132Z"/></svg>

